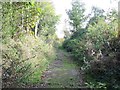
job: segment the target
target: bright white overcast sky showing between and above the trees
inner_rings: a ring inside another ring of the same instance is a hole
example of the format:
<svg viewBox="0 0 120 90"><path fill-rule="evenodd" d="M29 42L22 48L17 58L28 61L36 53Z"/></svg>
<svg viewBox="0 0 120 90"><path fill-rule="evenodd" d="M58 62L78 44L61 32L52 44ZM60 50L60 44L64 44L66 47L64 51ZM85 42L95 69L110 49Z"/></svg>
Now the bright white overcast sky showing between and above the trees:
<svg viewBox="0 0 120 90"><path fill-rule="evenodd" d="M60 18L60 22L57 25L57 31L56 34L58 35L59 38L63 38L64 37L64 33L63 33L63 27L64 27L64 21L65 19L68 18L67 14L66 14L66 9L70 9L71 8L71 1L72 0L52 0L53 5L55 7L55 11L57 14L59 14L61 16ZM110 8L118 8L118 1L120 0L80 0L82 2L85 3L85 8L86 8L86 14L90 13L90 10L92 8L92 6L97 6L99 8L104 9L105 11L107 11Z"/></svg>

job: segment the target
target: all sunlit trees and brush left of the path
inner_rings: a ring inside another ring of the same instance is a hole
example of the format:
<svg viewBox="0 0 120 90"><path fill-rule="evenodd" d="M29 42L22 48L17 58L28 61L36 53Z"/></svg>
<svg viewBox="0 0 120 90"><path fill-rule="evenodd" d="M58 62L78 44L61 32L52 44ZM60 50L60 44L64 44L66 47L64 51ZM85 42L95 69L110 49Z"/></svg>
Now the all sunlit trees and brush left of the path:
<svg viewBox="0 0 120 90"><path fill-rule="evenodd" d="M59 16L50 2L2 2L3 88L42 81L56 58L55 25Z"/></svg>

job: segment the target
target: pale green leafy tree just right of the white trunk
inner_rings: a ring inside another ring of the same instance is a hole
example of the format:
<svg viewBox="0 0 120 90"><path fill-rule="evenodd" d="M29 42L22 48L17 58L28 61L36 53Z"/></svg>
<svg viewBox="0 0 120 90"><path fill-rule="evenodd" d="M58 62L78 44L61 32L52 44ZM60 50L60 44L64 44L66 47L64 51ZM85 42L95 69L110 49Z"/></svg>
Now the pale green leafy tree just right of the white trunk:
<svg viewBox="0 0 120 90"><path fill-rule="evenodd" d="M56 23L59 21L59 15L55 14L55 9L50 2L41 2L39 7L42 12L39 15L38 36L49 37L55 34Z"/></svg>

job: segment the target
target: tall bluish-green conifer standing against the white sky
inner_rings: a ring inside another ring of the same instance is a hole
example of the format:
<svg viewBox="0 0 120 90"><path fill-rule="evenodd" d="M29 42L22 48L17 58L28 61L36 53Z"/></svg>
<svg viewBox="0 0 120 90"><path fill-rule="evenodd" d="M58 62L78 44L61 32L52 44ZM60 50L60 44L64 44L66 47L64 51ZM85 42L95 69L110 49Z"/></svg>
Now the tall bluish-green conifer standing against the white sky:
<svg viewBox="0 0 120 90"><path fill-rule="evenodd" d="M84 12L84 4L79 0L73 0L72 9L67 12L70 19L69 23L74 29L73 31L78 31L82 28L83 22L85 21Z"/></svg>

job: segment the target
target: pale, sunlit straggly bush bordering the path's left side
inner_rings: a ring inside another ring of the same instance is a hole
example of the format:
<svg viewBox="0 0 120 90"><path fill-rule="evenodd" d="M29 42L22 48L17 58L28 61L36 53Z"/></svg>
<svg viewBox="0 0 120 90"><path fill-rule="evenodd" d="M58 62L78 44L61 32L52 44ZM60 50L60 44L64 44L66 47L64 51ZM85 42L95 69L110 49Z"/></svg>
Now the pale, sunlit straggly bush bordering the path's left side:
<svg viewBox="0 0 120 90"><path fill-rule="evenodd" d="M26 34L17 41L3 43L3 87L21 87L40 82L48 64L55 60L54 48L39 38Z"/></svg>

